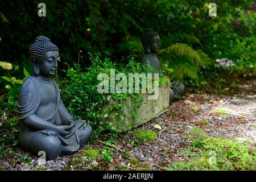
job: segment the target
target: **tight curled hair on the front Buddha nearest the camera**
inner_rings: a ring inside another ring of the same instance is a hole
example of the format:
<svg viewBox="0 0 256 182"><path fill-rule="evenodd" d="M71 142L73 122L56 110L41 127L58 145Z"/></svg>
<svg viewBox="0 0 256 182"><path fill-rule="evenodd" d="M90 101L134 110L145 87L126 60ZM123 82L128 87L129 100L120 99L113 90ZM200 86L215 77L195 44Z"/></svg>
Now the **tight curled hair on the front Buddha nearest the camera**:
<svg viewBox="0 0 256 182"><path fill-rule="evenodd" d="M59 49L46 36L36 37L35 42L29 48L31 60L38 62L43 59L44 53L48 51L59 51Z"/></svg>

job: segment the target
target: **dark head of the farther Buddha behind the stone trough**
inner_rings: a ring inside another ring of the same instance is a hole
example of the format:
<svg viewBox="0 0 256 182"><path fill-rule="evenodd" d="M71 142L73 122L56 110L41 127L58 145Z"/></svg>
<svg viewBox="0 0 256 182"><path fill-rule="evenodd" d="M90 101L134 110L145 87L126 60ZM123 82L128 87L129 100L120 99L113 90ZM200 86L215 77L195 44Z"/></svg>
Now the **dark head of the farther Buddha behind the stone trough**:
<svg viewBox="0 0 256 182"><path fill-rule="evenodd" d="M157 32L151 28L146 28L141 36L142 46L145 53L156 53L160 50L160 38Z"/></svg>

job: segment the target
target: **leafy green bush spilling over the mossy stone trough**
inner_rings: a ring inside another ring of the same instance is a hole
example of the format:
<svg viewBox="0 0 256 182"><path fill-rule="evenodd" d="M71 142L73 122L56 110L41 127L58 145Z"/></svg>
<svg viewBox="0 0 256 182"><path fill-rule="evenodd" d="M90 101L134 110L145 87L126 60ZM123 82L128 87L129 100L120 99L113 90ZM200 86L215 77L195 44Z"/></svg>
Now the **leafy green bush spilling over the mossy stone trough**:
<svg viewBox="0 0 256 182"><path fill-rule="evenodd" d="M107 119L104 125L107 129L112 131L117 131L121 127L122 123L125 123L125 117L123 113L123 106L125 105L125 100L127 98L132 98L136 102L129 108L131 111L136 110L143 103L143 94L141 92L141 81L140 92L139 93L98 93L97 86L101 82L97 80L100 73L106 73L109 76L110 82L110 69L115 69L115 74L118 73L146 73L146 67L141 63L137 63L134 59L135 57L130 56L129 63L125 66L118 63L112 63L109 58L103 59L99 54L90 55L92 60L92 65L86 68L86 72L75 71L73 68L69 68L67 71L67 77L60 82L61 96L63 97L63 102L67 106L68 110L77 118L85 119L94 130L94 134L104 130L102 126L99 125L103 122L104 118L108 118L110 111L115 110L115 115L118 116L119 121L110 121ZM128 76L127 76L128 77ZM118 81L115 80L115 84ZM130 84L130 83L129 83ZM127 84L127 88L129 88ZM135 82L134 82L135 84ZM133 87L134 88L134 87ZM108 101L113 100L109 107L106 107ZM134 115L136 117L136 114ZM120 125L111 127L113 122L117 122Z"/></svg>

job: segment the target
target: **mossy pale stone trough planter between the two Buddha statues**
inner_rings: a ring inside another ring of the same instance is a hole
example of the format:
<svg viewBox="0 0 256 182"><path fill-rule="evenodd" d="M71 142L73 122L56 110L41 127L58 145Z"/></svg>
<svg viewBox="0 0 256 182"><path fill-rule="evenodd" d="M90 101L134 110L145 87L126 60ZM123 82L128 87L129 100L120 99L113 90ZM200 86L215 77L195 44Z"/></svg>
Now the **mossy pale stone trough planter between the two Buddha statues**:
<svg viewBox="0 0 256 182"><path fill-rule="evenodd" d="M143 104L134 110L131 108L136 101L131 97L126 99L125 106L123 107L123 117L125 119L125 123L120 123L120 118L115 114L117 110L113 109L110 111L109 117L102 119L99 125L107 130L114 127L117 129L118 133L133 129L166 112L169 108L169 97L170 80L168 78L164 78L163 84L159 86L158 99L148 100L148 94L145 93L143 94ZM111 99L105 107L110 107L113 102L114 100ZM134 118L134 114L137 115L137 117ZM111 125L106 127L106 123L110 123Z"/></svg>

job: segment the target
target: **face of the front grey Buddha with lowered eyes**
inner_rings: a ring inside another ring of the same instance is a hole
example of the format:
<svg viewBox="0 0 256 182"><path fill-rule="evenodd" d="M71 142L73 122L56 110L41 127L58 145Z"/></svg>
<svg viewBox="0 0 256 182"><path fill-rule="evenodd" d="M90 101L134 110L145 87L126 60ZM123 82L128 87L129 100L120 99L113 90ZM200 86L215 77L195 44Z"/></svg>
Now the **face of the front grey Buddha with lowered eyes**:
<svg viewBox="0 0 256 182"><path fill-rule="evenodd" d="M49 77L55 74L57 69L57 61L59 60L58 51L48 51L44 53L42 61L39 63L39 74Z"/></svg>

